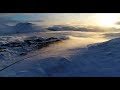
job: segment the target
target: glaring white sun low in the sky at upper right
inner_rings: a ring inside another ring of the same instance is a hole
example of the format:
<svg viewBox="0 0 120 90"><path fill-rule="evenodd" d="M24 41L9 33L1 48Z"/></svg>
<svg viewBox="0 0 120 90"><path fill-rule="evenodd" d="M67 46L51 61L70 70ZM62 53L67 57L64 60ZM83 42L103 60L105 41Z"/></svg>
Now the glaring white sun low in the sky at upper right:
<svg viewBox="0 0 120 90"><path fill-rule="evenodd" d="M103 27L112 27L118 20L117 14L96 14L96 23Z"/></svg>

